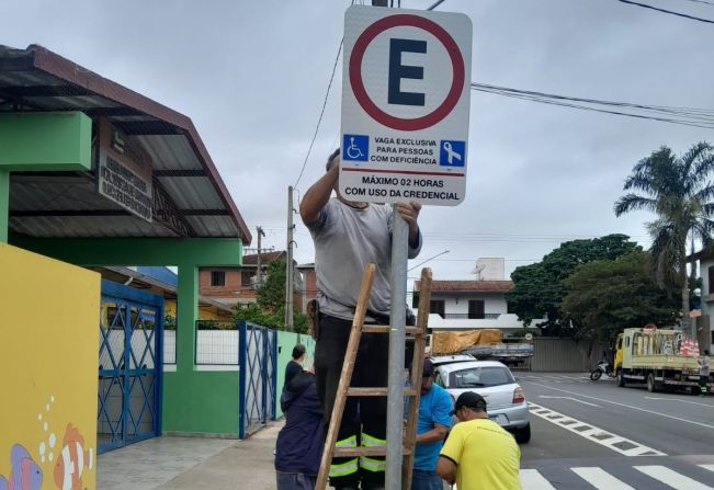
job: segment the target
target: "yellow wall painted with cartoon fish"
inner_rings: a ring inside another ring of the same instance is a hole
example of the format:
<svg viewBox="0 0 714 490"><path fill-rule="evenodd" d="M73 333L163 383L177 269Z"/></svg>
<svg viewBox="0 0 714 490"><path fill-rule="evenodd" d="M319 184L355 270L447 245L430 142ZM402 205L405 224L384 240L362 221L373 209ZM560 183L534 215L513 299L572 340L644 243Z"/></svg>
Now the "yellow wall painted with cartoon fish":
<svg viewBox="0 0 714 490"><path fill-rule="evenodd" d="M72 490L97 488L100 280L0 243L0 488L24 468L31 490L61 489L66 446L84 459Z"/></svg>

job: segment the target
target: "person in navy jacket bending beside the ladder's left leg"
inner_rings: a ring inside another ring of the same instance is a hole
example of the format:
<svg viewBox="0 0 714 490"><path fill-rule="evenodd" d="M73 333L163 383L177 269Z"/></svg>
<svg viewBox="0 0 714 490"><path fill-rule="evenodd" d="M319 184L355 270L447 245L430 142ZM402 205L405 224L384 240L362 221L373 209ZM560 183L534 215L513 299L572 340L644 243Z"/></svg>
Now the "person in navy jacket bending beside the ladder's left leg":
<svg viewBox="0 0 714 490"><path fill-rule="evenodd" d="M314 490L322 456L322 404L313 369L295 375L283 389L280 406L285 426L277 434L277 490Z"/></svg>

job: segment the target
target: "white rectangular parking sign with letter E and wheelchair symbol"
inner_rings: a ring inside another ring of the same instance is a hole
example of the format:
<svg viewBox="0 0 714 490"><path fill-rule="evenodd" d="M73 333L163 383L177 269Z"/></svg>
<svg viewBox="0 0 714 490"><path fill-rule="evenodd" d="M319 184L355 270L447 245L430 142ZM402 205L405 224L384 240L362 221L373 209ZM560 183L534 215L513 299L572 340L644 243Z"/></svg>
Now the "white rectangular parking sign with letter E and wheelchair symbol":
<svg viewBox="0 0 714 490"><path fill-rule="evenodd" d="M471 20L354 5L344 23L340 193L455 206L464 200Z"/></svg>

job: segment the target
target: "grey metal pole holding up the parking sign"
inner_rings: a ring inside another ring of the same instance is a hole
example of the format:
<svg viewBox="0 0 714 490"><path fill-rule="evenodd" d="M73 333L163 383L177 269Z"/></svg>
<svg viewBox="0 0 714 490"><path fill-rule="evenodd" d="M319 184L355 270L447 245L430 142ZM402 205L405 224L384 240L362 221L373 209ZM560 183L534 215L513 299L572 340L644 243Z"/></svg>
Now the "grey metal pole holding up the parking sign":
<svg viewBox="0 0 714 490"><path fill-rule="evenodd" d="M387 457L385 488L401 490L404 420L404 351L407 310L407 260L409 227L397 213L396 204L392 229L392 306L389 309L389 375L387 389Z"/></svg>

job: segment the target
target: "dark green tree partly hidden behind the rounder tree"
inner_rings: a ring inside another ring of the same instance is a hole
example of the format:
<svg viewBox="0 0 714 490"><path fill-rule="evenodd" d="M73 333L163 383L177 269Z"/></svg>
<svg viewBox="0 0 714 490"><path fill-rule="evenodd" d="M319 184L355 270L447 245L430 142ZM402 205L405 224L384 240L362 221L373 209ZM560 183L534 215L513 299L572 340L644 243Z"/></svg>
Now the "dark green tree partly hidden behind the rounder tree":
<svg viewBox="0 0 714 490"><path fill-rule="evenodd" d="M638 249L626 235L608 235L591 240L573 240L560 244L541 262L517 267L511 274L513 289L506 295L509 311L528 326L536 318L543 333L562 332L560 304L567 293L565 280L580 264L598 260L614 260Z"/></svg>

